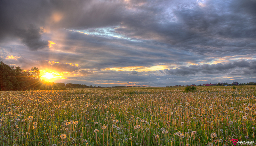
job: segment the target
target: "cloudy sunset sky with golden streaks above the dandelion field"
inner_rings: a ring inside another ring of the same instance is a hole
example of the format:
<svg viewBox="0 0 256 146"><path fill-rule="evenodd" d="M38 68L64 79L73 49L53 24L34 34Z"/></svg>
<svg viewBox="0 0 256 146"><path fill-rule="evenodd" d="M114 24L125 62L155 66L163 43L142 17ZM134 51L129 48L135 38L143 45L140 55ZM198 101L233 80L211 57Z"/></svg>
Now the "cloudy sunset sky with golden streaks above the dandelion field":
<svg viewBox="0 0 256 146"><path fill-rule="evenodd" d="M256 82L255 0L1 0L0 60L51 82Z"/></svg>

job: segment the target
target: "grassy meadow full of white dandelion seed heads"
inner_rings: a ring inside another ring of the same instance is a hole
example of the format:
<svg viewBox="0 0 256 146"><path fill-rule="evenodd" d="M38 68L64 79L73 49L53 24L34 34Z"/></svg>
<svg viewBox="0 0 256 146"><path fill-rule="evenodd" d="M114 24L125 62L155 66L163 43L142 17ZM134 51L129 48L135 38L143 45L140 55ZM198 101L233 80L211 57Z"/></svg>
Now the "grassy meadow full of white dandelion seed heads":
<svg viewBox="0 0 256 146"><path fill-rule="evenodd" d="M2 91L0 145L232 146L232 138L255 142L256 86L183 91Z"/></svg>

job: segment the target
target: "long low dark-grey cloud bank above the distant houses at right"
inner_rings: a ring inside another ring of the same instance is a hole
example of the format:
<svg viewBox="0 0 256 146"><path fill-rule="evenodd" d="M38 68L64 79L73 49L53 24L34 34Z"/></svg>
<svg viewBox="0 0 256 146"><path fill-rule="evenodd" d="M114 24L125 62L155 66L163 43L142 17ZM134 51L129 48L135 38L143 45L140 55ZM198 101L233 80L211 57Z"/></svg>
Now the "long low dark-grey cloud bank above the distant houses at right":
<svg viewBox="0 0 256 146"><path fill-rule="evenodd" d="M239 61L228 64L203 64L203 65L191 65L191 66L180 66L176 69L165 69L167 74L186 76L196 74L220 74L220 73L231 73L232 75L248 75L256 73L256 61L247 62Z"/></svg>

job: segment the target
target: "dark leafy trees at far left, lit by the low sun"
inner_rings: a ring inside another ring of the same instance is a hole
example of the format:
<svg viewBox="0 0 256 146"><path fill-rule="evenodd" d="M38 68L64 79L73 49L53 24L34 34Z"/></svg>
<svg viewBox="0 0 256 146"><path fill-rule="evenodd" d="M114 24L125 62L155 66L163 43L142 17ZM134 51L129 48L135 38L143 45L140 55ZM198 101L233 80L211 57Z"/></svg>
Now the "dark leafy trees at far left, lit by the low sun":
<svg viewBox="0 0 256 146"><path fill-rule="evenodd" d="M0 90L65 90L64 83L51 83L40 79L37 67L23 70L19 66L9 66L0 60Z"/></svg>

